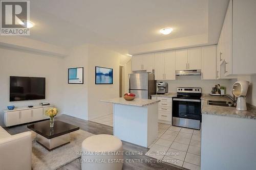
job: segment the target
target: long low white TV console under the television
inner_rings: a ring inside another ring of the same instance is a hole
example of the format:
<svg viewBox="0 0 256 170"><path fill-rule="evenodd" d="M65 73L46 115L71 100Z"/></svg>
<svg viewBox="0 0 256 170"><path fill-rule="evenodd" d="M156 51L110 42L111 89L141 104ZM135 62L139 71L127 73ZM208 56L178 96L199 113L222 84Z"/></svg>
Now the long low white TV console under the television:
<svg viewBox="0 0 256 170"><path fill-rule="evenodd" d="M45 112L53 105L29 107L15 107L13 110L4 110L4 124L6 127L26 124L49 118Z"/></svg>

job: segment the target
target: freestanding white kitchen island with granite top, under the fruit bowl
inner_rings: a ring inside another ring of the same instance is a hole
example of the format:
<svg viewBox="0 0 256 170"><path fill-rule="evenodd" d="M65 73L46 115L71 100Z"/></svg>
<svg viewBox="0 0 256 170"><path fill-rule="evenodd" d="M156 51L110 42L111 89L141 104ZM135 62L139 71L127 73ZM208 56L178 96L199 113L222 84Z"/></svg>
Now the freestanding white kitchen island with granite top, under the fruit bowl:
<svg viewBox="0 0 256 170"><path fill-rule="evenodd" d="M158 134L158 102L160 100L123 98L102 100L113 103L113 132L119 139L148 147Z"/></svg>

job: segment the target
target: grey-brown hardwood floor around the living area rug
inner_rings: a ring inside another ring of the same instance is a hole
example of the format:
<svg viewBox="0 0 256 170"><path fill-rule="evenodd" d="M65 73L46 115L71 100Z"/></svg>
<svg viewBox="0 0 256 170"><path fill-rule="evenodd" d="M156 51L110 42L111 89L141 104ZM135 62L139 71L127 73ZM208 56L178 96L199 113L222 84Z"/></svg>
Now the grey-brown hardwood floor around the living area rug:
<svg viewBox="0 0 256 170"><path fill-rule="evenodd" d="M87 120L82 120L76 117L72 117L69 115L59 115L56 117L57 120L61 120L62 122L66 122L69 124L73 124L76 126L79 126L81 130L93 133L93 134L113 134L113 127L107 126L107 125L102 125L102 124L98 124L98 123L94 123L94 122L90 122ZM23 125L23 126L18 126L18 127L13 127L13 128L5 128L8 133L10 134L17 134L17 133L21 133L21 132L25 132L25 131L29 131L29 129L27 128L27 125ZM129 143L129 142L125 142L122 141L123 143L123 150L126 153L126 151L129 151L130 153L133 151L139 151L142 152L143 154L141 155L124 155L124 159L125 160L132 160L133 163L124 163L123 164L123 168L124 170L128 170L128 169L149 169L149 170L153 170L153 169L170 169L170 170L179 170L179 169L186 169L186 168L182 168L179 166L175 166L175 165L171 165L168 163L161 163L161 162L157 162L156 159L145 156L144 153L146 153L148 151L148 148L144 148L144 147L140 147L138 145ZM58 168L58 170L78 170L81 169L81 163L79 163L79 159L78 160L74 160L60 168ZM151 162L134 162L136 160L149 160L151 159Z"/></svg>

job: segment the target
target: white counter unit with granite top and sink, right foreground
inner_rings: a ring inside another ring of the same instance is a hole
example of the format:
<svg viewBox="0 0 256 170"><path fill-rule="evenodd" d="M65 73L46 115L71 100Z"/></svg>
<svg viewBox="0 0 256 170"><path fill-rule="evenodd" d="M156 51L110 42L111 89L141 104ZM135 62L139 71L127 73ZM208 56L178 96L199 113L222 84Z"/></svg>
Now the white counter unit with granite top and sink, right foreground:
<svg viewBox="0 0 256 170"><path fill-rule="evenodd" d="M207 101L230 101L225 96L202 96L201 169L255 169L256 107L208 105Z"/></svg>

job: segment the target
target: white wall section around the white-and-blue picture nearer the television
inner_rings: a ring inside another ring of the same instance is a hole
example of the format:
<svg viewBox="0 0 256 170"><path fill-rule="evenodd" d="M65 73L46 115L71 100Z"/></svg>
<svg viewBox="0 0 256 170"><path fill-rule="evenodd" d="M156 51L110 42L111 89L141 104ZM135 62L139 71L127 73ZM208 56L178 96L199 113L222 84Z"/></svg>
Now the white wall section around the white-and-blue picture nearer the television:
<svg viewBox="0 0 256 170"><path fill-rule="evenodd" d="M65 83L63 84L63 113L88 119L88 44L74 47L65 57ZM84 67L83 84L68 84L68 68Z"/></svg>

